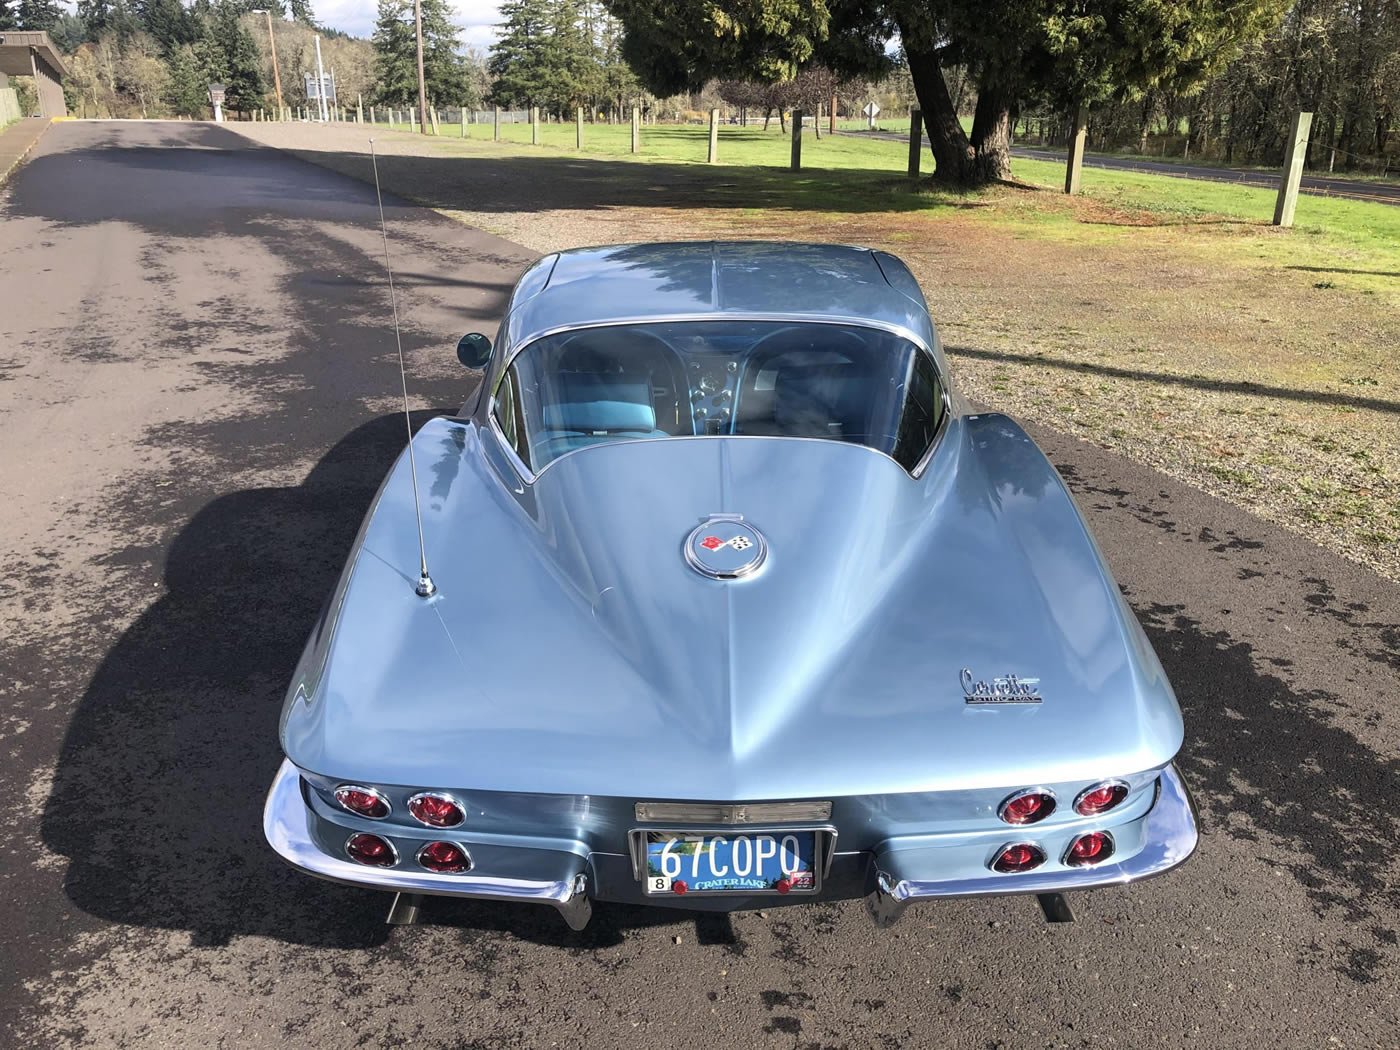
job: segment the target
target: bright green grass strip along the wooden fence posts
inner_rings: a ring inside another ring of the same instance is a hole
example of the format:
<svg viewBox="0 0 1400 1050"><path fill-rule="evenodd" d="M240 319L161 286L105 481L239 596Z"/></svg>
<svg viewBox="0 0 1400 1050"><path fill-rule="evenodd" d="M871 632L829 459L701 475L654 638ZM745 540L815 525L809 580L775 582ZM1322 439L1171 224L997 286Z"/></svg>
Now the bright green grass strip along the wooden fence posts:
<svg viewBox="0 0 1400 1050"><path fill-rule="evenodd" d="M395 127L409 130L407 125ZM466 143L508 153L577 153L573 123L542 123L538 147L531 146L528 123L501 125L500 143L491 143L491 125L468 125ZM447 125L442 126L442 136L434 140L434 147L461 148L456 146L461 140L461 125ZM584 125L581 155L640 164L704 165L707 150L708 129L704 126L644 126L641 151L633 154L629 125ZM1298 200L1294 234L1275 237L1271 234L1281 231L1268 227L1275 197L1268 189L1085 168L1082 193L1103 213L1086 217L1063 206L1057 190L1064 181L1064 168L1051 161L1018 158L1012 165L1019 182L1046 190L1044 195L1016 195L1000 188L983 195L958 195L928 189L927 181L921 192L910 193L902 178L907 171L909 147L899 141L825 133L818 139L808 129L802 136L802 174L795 178L788 172L790 155L791 139L778 130L777 120L767 132L721 126L714 171L717 179L729 186L735 185L734 179L742 178L763 200L791 195L794 206L806 209L850 211L853 195L860 197L860 210L868 211L967 206L969 199L980 196L990 209L995 209L991 218L1000 214L1049 237L1133 237L1134 230L1144 225L1238 224L1236 231L1253 227L1259 234L1268 235L1218 238L1212 251L1240 260L1338 269L1350 272L1361 284L1387 293L1394 291L1394 273L1400 272L1400 207L1396 206L1305 195ZM931 165L927 153L923 164L925 169Z"/></svg>

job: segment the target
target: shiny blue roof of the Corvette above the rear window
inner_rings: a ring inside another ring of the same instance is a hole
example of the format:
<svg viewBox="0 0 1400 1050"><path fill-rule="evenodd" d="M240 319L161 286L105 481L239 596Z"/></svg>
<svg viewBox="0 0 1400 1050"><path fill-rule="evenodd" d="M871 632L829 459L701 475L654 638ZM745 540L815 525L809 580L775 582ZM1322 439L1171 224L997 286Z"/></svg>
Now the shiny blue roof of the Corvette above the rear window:
<svg viewBox="0 0 1400 1050"><path fill-rule="evenodd" d="M557 252L521 277L505 319L504 368L550 332L665 318L854 321L896 328L942 354L909 269L868 248L676 241ZM500 347L498 347L500 349Z"/></svg>

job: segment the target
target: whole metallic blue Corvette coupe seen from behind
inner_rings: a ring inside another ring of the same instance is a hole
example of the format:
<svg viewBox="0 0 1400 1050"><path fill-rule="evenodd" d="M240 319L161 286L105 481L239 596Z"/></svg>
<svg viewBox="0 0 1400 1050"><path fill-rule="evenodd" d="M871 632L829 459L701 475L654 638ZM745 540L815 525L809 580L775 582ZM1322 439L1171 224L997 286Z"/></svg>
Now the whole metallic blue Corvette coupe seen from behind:
<svg viewBox="0 0 1400 1050"><path fill-rule="evenodd" d="M265 832L419 895L734 910L1065 890L1196 847L1182 714L909 269L549 255L384 483L281 717ZM421 521L421 525L420 525Z"/></svg>

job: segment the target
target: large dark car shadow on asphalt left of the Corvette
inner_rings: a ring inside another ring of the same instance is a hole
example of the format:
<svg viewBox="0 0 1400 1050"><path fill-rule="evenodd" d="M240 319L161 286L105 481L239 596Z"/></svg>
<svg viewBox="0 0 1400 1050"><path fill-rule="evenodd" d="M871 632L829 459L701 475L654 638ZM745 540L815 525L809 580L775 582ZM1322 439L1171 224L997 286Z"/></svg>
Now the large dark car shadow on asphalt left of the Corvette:
<svg viewBox="0 0 1400 1050"><path fill-rule="evenodd" d="M403 416L375 419L301 484L220 496L169 545L165 592L92 676L43 811L80 909L203 945L385 939L388 897L293 871L263 841L262 806L283 692L402 448Z"/></svg>

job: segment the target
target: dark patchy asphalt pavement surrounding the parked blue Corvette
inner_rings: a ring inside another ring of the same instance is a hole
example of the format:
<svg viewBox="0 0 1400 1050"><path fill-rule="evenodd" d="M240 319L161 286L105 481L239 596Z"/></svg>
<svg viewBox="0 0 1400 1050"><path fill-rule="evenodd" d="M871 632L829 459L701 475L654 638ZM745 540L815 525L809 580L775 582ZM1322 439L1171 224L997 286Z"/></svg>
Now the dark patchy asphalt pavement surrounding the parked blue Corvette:
<svg viewBox="0 0 1400 1050"><path fill-rule="evenodd" d="M412 388L452 409L528 253L388 204ZM433 900L391 932L259 829L403 444L372 197L210 125L74 122L0 217L0 1044L1400 1046L1400 588L1051 433L1183 701L1189 867L1070 925Z"/></svg>

